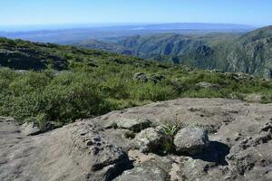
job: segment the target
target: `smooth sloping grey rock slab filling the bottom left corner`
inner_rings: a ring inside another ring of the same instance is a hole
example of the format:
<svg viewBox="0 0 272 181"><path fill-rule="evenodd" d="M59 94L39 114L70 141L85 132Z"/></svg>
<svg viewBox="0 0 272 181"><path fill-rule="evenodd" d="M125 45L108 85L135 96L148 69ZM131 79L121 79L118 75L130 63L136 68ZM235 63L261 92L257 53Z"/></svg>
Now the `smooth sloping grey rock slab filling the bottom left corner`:
<svg viewBox="0 0 272 181"><path fill-rule="evenodd" d="M0 180L112 180L130 165L126 153L78 122L34 137L0 123ZM5 128L5 130L4 130Z"/></svg>

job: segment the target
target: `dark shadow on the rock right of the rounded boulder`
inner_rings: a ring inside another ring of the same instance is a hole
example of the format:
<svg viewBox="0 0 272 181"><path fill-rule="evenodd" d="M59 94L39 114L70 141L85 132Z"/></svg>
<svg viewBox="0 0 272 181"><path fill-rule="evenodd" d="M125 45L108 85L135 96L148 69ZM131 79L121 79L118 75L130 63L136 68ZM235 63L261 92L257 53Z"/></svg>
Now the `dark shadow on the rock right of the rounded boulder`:
<svg viewBox="0 0 272 181"><path fill-rule="evenodd" d="M216 162L221 166L227 166L226 156L229 153L228 145L220 143L218 141L210 141L209 147L206 148L203 153L195 155L193 159L201 159L208 162Z"/></svg>

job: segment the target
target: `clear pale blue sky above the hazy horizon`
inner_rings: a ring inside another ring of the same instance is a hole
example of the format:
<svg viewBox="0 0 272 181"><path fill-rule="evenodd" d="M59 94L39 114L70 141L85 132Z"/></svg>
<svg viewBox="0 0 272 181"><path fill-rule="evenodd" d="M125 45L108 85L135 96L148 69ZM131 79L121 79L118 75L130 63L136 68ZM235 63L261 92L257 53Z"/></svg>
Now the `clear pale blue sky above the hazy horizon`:
<svg viewBox="0 0 272 181"><path fill-rule="evenodd" d="M0 0L0 25L272 24L272 0Z"/></svg>

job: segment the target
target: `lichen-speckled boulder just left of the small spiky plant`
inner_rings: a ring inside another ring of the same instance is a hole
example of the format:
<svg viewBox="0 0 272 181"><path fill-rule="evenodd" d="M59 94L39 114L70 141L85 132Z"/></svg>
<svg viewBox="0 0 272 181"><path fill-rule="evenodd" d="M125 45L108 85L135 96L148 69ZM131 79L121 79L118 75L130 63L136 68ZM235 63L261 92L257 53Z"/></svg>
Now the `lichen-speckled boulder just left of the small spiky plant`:
<svg viewBox="0 0 272 181"><path fill-rule="evenodd" d="M142 130L135 137L136 147L140 149L141 152L158 152L163 144L164 139L163 131L160 127L149 128Z"/></svg>

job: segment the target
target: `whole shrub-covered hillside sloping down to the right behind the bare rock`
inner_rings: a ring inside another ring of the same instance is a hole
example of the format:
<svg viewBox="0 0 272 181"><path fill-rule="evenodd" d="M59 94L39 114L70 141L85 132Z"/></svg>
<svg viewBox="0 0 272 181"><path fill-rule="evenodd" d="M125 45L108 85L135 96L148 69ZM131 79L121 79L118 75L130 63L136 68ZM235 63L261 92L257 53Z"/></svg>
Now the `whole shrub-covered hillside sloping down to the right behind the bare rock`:
<svg viewBox="0 0 272 181"><path fill-rule="evenodd" d="M0 115L42 129L182 97L243 100L257 93L272 102L272 81L71 46L1 39L0 64Z"/></svg>

